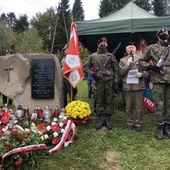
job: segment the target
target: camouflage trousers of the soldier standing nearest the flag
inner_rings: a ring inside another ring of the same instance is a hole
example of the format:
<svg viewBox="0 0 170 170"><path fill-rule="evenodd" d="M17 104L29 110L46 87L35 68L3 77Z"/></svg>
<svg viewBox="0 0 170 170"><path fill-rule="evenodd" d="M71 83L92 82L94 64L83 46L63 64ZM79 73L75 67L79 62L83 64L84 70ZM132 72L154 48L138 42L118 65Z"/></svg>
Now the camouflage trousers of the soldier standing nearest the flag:
<svg viewBox="0 0 170 170"><path fill-rule="evenodd" d="M96 83L94 100L97 115L113 114L113 97L113 80Z"/></svg>

